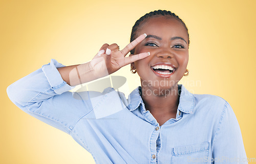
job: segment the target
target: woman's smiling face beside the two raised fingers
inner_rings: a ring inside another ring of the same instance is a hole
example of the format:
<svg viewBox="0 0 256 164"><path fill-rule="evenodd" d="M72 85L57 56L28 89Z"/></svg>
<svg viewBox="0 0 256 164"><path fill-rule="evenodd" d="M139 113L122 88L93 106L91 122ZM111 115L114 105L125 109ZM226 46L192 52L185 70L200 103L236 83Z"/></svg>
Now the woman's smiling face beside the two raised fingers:
<svg viewBox="0 0 256 164"><path fill-rule="evenodd" d="M135 53L151 55L132 63L141 78L141 85L169 89L183 77L188 63L188 34L180 21L172 17L146 20L136 35L147 37L135 47ZM173 70L173 71L172 71Z"/></svg>

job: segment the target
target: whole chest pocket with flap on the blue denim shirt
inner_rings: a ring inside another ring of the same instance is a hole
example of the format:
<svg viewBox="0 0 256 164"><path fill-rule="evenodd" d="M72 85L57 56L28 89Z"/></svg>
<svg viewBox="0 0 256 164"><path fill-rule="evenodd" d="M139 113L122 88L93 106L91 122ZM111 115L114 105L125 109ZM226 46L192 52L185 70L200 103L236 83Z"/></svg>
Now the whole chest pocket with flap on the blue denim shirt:
<svg viewBox="0 0 256 164"><path fill-rule="evenodd" d="M210 163L209 143L173 148L172 163Z"/></svg>

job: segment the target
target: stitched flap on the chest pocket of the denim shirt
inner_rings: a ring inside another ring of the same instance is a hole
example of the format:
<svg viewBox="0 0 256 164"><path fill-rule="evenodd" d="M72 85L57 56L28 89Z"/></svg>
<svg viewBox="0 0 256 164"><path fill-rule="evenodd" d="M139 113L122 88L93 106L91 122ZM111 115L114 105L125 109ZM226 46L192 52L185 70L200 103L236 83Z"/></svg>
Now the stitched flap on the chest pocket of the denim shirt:
<svg viewBox="0 0 256 164"><path fill-rule="evenodd" d="M196 152L200 152L208 149L209 149L209 143L205 142L201 144L194 144L194 145L189 145L184 147L173 148L173 155L191 154L191 153L196 153Z"/></svg>

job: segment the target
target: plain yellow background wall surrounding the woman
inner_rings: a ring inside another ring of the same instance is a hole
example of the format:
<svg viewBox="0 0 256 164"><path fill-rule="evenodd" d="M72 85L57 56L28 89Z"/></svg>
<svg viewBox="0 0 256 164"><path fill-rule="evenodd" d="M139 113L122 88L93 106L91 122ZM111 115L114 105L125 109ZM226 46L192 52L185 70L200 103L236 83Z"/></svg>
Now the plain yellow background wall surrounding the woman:
<svg viewBox="0 0 256 164"><path fill-rule="evenodd" d="M104 43L123 48L135 21L158 9L179 15L189 30L190 73L181 84L227 100L247 157L255 158L255 7L248 0L0 1L0 163L94 163L70 135L16 107L6 88L51 59L68 66L90 61ZM124 74L130 91L140 85L130 65L115 73Z"/></svg>

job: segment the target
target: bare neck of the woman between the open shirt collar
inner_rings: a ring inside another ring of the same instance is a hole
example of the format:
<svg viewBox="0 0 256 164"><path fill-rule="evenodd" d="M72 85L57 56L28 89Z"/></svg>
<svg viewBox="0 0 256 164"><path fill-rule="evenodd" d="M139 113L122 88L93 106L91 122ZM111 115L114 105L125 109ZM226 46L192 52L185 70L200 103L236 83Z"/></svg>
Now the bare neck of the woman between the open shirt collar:
<svg viewBox="0 0 256 164"><path fill-rule="evenodd" d="M141 85L141 97L146 110L153 115L176 115L179 105L178 84L169 88Z"/></svg>

